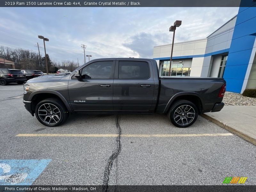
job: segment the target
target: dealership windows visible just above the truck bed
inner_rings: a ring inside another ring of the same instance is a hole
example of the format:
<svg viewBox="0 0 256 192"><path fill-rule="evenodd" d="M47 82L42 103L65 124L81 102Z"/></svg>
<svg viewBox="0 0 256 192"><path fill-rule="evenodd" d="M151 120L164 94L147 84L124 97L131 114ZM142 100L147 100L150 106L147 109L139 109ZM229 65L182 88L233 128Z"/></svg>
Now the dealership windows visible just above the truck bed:
<svg viewBox="0 0 256 192"><path fill-rule="evenodd" d="M169 76L170 61L162 61L161 76ZM190 76L190 68L183 68L183 64L172 64L171 76Z"/></svg>

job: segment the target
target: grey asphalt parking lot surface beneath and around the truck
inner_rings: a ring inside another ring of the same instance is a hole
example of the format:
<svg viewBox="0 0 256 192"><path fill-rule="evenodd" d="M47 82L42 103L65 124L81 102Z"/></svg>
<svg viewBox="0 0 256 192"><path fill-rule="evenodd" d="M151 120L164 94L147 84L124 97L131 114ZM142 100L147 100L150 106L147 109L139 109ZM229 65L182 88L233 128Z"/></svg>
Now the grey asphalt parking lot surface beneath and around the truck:
<svg viewBox="0 0 256 192"><path fill-rule="evenodd" d="M0 159L17 167L42 160L28 173L36 185L221 185L225 177L256 184L256 147L201 116L177 128L163 114L71 114L46 127L22 95L22 85L0 86Z"/></svg>

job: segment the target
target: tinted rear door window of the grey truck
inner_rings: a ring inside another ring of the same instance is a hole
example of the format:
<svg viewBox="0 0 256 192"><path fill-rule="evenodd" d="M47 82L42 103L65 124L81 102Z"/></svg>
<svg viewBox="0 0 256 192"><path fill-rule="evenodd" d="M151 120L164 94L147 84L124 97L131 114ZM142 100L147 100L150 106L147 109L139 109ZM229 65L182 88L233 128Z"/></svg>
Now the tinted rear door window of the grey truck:
<svg viewBox="0 0 256 192"><path fill-rule="evenodd" d="M147 62L119 61L119 79L148 79L149 77L149 67Z"/></svg>

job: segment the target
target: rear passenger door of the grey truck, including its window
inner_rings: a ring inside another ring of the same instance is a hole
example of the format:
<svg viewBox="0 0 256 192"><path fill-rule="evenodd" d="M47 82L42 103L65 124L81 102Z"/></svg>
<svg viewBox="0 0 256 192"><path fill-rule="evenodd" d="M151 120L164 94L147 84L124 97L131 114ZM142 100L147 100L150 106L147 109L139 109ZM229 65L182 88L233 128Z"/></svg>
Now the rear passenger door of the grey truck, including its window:
<svg viewBox="0 0 256 192"><path fill-rule="evenodd" d="M154 96L154 76L147 60L116 60L114 111L148 112Z"/></svg>

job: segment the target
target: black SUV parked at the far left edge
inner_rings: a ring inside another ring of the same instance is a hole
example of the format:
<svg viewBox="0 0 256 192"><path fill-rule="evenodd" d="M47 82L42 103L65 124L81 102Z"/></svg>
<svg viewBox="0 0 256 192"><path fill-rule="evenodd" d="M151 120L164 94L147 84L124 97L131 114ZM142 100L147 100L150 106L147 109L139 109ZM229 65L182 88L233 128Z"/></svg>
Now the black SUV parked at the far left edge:
<svg viewBox="0 0 256 192"><path fill-rule="evenodd" d="M8 83L23 84L25 81L27 81L26 75L21 70L0 68L1 85L7 85Z"/></svg>

